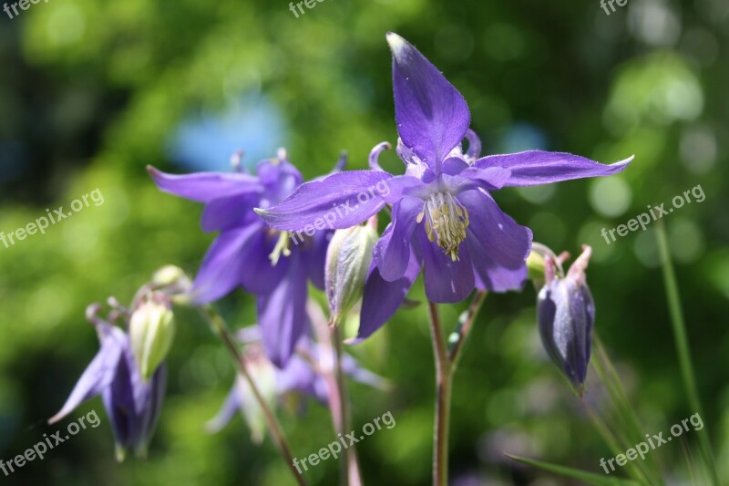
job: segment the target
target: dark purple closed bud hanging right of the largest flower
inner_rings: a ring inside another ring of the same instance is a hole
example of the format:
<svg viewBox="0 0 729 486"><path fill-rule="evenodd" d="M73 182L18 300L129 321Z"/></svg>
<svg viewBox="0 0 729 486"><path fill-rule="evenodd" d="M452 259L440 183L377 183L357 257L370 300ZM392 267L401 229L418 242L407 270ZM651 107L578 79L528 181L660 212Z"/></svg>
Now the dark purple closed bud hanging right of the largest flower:
<svg viewBox="0 0 729 486"><path fill-rule="evenodd" d="M595 304L585 281L591 253L589 246L583 246L582 253L564 277L557 275L557 264L547 255L544 259L546 284L537 300L542 344L580 395L587 377L595 322Z"/></svg>

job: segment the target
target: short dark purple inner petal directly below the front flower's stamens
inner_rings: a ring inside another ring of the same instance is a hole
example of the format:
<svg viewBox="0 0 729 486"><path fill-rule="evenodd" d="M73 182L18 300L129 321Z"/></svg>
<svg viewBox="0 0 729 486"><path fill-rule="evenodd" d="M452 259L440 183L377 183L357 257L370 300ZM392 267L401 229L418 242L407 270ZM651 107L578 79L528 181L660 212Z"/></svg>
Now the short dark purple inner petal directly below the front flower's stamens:
<svg viewBox="0 0 729 486"><path fill-rule="evenodd" d="M466 243L460 244L458 260L454 262L436 243L428 241L425 230L416 233L423 252L427 298L438 304L464 300L473 292L475 284Z"/></svg>

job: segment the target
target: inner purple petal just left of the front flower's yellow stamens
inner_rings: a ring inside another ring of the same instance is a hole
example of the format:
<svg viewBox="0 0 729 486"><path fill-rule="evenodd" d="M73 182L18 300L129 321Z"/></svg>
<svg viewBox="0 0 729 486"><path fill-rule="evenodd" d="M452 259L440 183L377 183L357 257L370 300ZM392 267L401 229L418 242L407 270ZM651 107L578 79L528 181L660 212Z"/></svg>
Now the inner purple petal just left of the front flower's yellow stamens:
<svg viewBox="0 0 729 486"><path fill-rule="evenodd" d="M393 221L375 243L373 256L380 275L388 282L402 277L410 261L410 245L423 200L406 196L393 207Z"/></svg>

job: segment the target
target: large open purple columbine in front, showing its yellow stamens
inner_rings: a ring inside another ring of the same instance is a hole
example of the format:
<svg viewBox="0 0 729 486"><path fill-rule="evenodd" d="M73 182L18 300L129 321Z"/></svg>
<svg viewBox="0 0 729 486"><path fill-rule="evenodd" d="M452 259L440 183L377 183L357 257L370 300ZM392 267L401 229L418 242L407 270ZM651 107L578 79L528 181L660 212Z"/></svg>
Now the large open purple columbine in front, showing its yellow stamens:
<svg viewBox="0 0 729 486"><path fill-rule="evenodd" d="M370 154L370 171L303 184L281 204L259 211L273 228L296 231L324 216L333 220L330 227L348 228L393 205L392 222L375 245L359 337L371 335L395 313L421 268L427 298L437 303L459 302L475 287L521 288L531 231L501 212L489 191L611 175L631 160L603 165L539 150L480 157L466 100L403 37L388 33L387 42L393 53L397 154L405 175L380 169L377 156L388 147L381 143Z"/></svg>

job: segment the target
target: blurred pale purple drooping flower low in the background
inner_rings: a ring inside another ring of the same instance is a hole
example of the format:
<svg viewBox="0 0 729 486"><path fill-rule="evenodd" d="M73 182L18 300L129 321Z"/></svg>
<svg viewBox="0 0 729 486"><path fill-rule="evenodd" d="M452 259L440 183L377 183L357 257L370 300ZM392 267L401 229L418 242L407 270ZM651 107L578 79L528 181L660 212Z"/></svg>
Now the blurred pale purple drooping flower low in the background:
<svg viewBox="0 0 729 486"><path fill-rule="evenodd" d="M238 333L238 336L245 346L243 350L245 365L269 406L274 405L277 400L293 397L294 394L314 398L322 404L327 403L329 383L323 376L325 366L322 363L321 345L314 343L308 336L303 336L296 346L296 354L286 367L278 368L265 357L261 347L260 326L246 327ZM343 356L342 369L344 374L360 383L375 388L385 387L385 380L382 377L360 367L350 355ZM228 398L225 399L215 418L210 419L207 429L217 432L239 411L251 429L252 440L260 443L266 429L263 411L253 397L248 382L241 377L236 378Z"/></svg>

